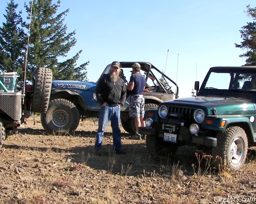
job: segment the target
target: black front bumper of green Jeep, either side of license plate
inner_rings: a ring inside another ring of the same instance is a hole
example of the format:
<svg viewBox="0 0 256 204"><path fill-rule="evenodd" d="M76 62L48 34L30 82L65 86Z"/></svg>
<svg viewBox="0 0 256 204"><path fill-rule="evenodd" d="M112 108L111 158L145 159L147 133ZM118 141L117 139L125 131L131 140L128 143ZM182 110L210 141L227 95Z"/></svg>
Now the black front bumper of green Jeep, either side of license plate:
<svg viewBox="0 0 256 204"><path fill-rule="evenodd" d="M160 131L154 128L139 127L139 134L152 135L156 137L164 137L164 131ZM177 144L179 143L193 143L200 144L207 147L216 147L217 139L214 137L202 137L196 135L177 135Z"/></svg>

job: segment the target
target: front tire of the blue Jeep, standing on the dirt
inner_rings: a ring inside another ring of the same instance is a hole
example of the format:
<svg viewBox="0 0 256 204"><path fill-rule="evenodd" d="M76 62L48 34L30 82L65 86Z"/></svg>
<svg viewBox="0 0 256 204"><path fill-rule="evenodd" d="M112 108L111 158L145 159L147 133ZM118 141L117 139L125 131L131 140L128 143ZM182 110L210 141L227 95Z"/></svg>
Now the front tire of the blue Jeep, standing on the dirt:
<svg viewBox="0 0 256 204"><path fill-rule="evenodd" d="M41 114L42 126L48 134L73 135L80 120L76 106L65 99L50 101L46 113Z"/></svg>

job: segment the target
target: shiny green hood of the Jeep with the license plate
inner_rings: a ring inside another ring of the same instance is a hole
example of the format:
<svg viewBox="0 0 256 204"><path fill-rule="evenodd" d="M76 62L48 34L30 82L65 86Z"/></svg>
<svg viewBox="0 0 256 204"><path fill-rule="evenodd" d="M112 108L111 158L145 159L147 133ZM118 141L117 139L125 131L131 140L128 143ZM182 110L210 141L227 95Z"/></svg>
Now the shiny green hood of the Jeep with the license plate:
<svg viewBox="0 0 256 204"><path fill-rule="evenodd" d="M255 114L255 104L246 99L240 98L219 98L219 97L188 97L166 101L162 104L167 106L186 106L202 108L206 114L212 114L215 108L218 115L248 115Z"/></svg>

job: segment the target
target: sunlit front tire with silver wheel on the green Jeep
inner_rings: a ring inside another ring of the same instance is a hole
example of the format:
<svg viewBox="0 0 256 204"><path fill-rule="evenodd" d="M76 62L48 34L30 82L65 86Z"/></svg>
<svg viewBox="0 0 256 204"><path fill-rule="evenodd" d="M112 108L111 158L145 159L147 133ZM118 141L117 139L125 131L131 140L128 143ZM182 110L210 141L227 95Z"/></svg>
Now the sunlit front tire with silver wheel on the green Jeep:
<svg viewBox="0 0 256 204"><path fill-rule="evenodd" d="M219 159L213 162L214 166L222 171L227 167L233 171L238 171L244 164L247 151L248 140L243 128L232 126L216 135L217 146L212 148L212 156Z"/></svg>

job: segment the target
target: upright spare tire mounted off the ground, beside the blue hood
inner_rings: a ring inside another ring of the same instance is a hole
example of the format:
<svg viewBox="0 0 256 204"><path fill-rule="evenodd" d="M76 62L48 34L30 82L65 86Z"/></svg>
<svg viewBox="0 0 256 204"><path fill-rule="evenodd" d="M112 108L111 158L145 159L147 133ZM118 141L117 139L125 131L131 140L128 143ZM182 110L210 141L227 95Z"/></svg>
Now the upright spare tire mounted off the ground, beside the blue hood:
<svg viewBox="0 0 256 204"><path fill-rule="evenodd" d="M47 111L52 88L52 70L40 67L35 74L31 111L45 113Z"/></svg>

